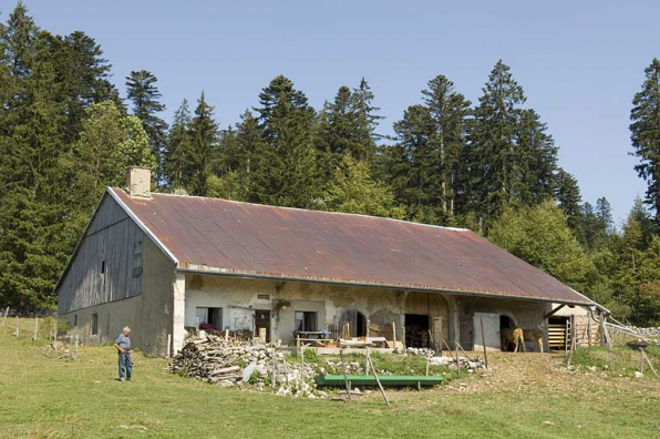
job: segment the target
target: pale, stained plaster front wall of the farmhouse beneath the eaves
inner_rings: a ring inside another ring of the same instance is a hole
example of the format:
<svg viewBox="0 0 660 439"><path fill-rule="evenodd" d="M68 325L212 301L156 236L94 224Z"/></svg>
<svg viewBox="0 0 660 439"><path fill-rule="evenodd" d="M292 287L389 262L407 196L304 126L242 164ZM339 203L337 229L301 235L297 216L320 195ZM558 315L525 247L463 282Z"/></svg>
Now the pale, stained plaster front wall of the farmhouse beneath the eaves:
<svg viewBox="0 0 660 439"><path fill-rule="evenodd" d="M442 337L450 339L447 302L452 300L446 300L446 296L443 298L444 295L430 296L421 299L420 294L393 289L188 274L185 325L195 326L197 307L212 307L223 308L223 329L252 329L254 309L269 309L271 339L292 344L296 312L316 312L319 329L326 329L329 325L339 324L347 309L357 309L369 319L373 317L374 323L394 321L400 338L408 310L442 317ZM288 300L290 306L277 309L279 300ZM386 321L381 321L383 319Z"/></svg>

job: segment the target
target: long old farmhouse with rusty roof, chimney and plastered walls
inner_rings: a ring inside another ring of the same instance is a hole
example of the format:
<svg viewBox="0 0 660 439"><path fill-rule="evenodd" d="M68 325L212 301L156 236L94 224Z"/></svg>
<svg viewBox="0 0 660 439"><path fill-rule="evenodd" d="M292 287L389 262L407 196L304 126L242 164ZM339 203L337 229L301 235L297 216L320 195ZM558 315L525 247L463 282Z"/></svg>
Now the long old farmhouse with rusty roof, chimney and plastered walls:
<svg viewBox="0 0 660 439"><path fill-rule="evenodd" d="M56 285L60 316L93 340L130 325L135 346L164 355L202 325L282 344L391 325L406 345L471 349L483 323L499 349L503 328L547 334L558 306L605 313L467 229L156 194L135 167L127 178L106 190Z"/></svg>

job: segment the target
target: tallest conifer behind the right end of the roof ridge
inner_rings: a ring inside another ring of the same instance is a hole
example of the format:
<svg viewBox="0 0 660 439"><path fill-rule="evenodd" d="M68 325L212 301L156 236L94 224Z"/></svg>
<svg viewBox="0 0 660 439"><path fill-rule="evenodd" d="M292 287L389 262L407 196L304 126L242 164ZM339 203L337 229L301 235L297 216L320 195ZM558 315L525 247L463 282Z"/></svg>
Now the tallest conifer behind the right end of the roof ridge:
<svg viewBox="0 0 660 439"><path fill-rule="evenodd" d="M474 208L493 220L503 206L535 205L553 196L557 149L523 88L498 61L483 89L471 130Z"/></svg>

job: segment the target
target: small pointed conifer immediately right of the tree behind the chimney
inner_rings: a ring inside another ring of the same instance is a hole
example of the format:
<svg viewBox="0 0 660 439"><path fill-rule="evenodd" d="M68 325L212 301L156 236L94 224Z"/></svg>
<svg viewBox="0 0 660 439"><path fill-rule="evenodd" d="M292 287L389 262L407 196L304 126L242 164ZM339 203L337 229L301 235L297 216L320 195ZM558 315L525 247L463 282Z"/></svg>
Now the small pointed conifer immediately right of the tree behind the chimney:
<svg viewBox="0 0 660 439"><path fill-rule="evenodd" d="M192 124L188 100L184 99L174 113L165 151L165 178L173 188L186 188L192 182L194 166Z"/></svg>

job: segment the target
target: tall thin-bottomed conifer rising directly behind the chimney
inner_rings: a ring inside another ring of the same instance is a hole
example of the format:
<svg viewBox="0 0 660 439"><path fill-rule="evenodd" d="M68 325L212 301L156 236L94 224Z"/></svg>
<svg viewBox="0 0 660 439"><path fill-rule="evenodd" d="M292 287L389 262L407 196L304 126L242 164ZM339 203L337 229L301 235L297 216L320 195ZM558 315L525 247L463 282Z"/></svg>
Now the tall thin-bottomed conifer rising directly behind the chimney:
<svg viewBox="0 0 660 439"><path fill-rule="evenodd" d="M165 105L159 102L163 96L156 86L158 80L146 70L132 71L126 76L126 93L133 102L133 114L142 121L144 131L146 131L152 152L157 157L159 165L163 163L163 154L167 137L167 124L158 113L165 110ZM162 182L163 172L158 170L156 182Z"/></svg>

